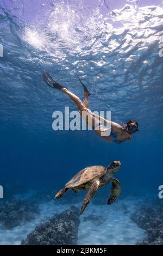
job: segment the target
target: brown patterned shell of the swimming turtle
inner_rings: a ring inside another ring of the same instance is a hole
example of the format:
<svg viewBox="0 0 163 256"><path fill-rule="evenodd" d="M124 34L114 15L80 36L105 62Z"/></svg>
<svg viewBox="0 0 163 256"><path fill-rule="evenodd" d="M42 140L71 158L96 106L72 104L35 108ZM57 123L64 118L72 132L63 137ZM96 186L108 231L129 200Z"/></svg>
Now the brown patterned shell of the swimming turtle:
<svg viewBox="0 0 163 256"><path fill-rule="evenodd" d="M106 168L103 166L87 167L81 170L75 176L73 176L73 178L66 183L65 187L73 188L73 187L78 187L80 185L84 185L87 182L96 178L97 176L102 175L105 169Z"/></svg>

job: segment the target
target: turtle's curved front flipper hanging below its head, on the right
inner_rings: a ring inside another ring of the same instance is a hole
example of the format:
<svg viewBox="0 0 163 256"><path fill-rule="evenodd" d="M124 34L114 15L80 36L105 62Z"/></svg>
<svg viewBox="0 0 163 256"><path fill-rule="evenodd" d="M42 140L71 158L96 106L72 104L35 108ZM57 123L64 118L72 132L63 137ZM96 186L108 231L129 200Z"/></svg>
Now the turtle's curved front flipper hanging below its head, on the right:
<svg viewBox="0 0 163 256"><path fill-rule="evenodd" d="M115 200L120 196L121 194L121 184L120 181L118 181L115 178L111 178L110 180L112 182L111 185L111 193L110 193L110 197L108 199L108 203L107 204L112 204L115 202Z"/></svg>

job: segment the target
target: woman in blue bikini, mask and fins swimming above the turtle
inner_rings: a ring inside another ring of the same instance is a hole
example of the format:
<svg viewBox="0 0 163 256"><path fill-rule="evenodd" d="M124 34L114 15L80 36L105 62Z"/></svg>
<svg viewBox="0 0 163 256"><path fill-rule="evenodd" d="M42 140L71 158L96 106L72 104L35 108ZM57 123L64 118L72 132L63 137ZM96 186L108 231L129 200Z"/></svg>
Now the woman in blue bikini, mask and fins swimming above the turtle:
<svg viewBox="0 0 163 256"><path fill-rule="evenodd" d="M69 92L65 86L61 86L61 84L55 82L45 71L43 72L43 79L48 84L48 86L59 89L61 92L67 94L70 99L77 105L79 113L86 124L91 127L93 131L95 131L97 136L101 137L105 141L115 143L130 141L131 135L133 135L136 131L139 131L137 129L138 123L134 120L130 120L127 124L122 126L115 122L99 117L99 115L96 115L95 113L92 113L88 108L90 92L87 90L86 86L83 84L79 77L78 79L84 88L83 102L79 99L78 96Z"/></svg>

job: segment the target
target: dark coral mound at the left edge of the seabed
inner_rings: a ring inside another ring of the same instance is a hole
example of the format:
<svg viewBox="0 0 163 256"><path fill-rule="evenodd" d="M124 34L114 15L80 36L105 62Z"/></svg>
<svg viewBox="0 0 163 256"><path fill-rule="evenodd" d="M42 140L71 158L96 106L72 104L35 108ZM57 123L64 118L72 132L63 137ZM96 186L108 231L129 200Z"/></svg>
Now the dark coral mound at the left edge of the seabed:
<svg viewBox="0 0 163 256"><path fill-rule="evenodd" d="M39 206L29 200L13 199L0 204L0 222L8 229L33 220L39 213Z"/></svg>

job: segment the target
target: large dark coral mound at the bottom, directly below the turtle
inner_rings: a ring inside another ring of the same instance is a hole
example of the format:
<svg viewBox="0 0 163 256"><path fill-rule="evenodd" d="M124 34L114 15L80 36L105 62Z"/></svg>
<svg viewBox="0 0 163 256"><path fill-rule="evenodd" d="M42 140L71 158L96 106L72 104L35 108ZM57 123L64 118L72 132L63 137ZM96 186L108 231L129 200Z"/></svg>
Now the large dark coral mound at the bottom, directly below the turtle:
<svg viewBox="0 0 163 256"><path fill-rule="evenodd" d="M79 223L79 209L71 206L41 223L22 240L22 245L76 245Z"/></svg>

